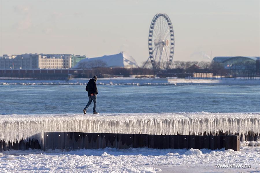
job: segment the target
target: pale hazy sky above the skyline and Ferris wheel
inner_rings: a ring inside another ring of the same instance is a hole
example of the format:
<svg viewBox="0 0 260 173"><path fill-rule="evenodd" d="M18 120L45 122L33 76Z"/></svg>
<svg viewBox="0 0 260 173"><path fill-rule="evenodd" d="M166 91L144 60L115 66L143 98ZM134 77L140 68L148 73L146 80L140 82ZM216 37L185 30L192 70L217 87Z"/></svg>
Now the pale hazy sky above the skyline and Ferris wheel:
<svg viewBox="0 0 260 173"><path fill-rule="evenodd" d="M153 16L166 13L174 60L260 56L260 1L0 1L0 54L99 57L126 51L148 58Z"/></svg>

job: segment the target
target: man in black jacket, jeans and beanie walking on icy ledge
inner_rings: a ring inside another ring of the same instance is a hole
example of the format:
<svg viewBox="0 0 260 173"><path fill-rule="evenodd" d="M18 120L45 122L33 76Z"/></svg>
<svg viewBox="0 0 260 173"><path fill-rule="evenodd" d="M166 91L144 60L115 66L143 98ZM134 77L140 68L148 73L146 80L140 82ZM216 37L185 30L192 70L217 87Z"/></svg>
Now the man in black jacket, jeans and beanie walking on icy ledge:
<svg viewBox="0 0 260 173"><path fill-rule="evenodd" d="M83 109L84 114L86 114L88 106L91 104L92 100L94 102L93 114L99 114L96 112L96 95L98 94L98 90L96 87L96 80L97 80L97 77L94 76L92 79L89 80L89 82L86 86L86 91L88 91L88 104Z"/></svg>

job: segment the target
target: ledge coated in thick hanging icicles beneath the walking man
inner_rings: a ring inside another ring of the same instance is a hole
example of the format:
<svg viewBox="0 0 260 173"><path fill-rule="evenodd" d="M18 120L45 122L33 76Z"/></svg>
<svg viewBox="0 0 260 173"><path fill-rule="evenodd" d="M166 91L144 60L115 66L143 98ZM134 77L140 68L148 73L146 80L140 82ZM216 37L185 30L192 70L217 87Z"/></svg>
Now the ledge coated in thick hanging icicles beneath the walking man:
<svg viewBox="0 0 260 173"><path fill-rule="evenodd" d="M0 115L0 139L11 141L40 140L44 131L139 133L140 130L144 134L164 135L215 135L220 131L255 135L260 133L260 113Z"/></svg>

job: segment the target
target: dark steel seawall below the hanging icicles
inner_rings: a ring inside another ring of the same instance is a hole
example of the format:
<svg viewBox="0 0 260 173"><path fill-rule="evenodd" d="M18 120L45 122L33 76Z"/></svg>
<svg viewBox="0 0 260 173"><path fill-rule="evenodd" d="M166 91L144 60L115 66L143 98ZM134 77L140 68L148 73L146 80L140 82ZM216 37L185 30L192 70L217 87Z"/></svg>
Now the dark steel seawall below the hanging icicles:
<svg viewBox="0 0 260 173"><path fill-rule="evenodd" d="M246 138L247 139L247 138ZM18 140L14 143L0 140L0 151L6 150L77 150L98 148L158 148L158 149L233 149L239 151L238 135L148 135L121 133L44 132L42 141Z"/></svg>

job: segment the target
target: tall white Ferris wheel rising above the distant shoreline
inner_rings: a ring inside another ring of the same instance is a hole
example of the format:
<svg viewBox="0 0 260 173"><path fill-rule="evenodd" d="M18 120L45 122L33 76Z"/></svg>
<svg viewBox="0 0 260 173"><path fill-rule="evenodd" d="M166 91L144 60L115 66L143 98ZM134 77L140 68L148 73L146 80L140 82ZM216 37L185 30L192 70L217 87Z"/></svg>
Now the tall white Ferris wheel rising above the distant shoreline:
<svg viewBox="0 0 260 173"><path fill-rule="evenodd" d="M171 65L174 54L174 32L167 14L156 14L153 17L149 29L148 48L148 60L151 60L153 69L167 69Z"/></svg>

